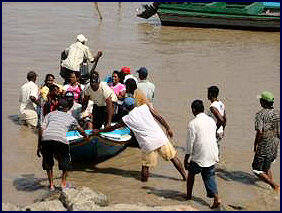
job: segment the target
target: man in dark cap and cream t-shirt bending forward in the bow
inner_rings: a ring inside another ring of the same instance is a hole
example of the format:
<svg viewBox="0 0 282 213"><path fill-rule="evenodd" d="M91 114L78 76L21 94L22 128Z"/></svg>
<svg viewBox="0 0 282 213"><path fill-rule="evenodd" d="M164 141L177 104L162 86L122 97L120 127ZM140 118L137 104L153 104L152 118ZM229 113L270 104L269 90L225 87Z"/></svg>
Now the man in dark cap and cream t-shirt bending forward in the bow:
<svg viewBox="0 0 282 213"><path fill-rule="evenodd" d="M90 75L90 83L83 90L82 111L88 106L89 100L93 101L93 125L99 129L103 124L110 126L114 115L114 105L117 96L106 82L100 82L99 73L93 71Z"/></svg>

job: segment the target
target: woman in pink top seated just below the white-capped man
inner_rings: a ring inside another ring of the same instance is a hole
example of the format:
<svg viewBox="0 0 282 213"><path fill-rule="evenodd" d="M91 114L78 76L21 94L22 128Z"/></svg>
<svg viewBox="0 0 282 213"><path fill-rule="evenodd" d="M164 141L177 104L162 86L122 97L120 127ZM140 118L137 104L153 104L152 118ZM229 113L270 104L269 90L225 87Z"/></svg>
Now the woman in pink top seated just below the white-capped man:
<svg viewBox="0 0 282 213"><path fill-rule="evenodd" d="M64 85L64 90L66 92L73 92L74 101L77 103L81 103L81 94L84 89L84 85L80 84L77 81L77 77L74 72L70 74L70 82L69 84Z"/></svg>

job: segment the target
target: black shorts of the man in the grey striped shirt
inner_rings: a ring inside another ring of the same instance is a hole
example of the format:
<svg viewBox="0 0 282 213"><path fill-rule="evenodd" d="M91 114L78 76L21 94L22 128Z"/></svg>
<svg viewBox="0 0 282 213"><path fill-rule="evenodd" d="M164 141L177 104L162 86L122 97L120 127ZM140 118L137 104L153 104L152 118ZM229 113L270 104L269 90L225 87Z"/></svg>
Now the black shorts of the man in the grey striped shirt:
<svg viewBox="0 0 282 213"><path fill-rule="evenodd" d="M58 160L59 170L68 171L71 169L70 147L59 141L42 142L42 168L51 170L54 166L54 158Z"/></svg>

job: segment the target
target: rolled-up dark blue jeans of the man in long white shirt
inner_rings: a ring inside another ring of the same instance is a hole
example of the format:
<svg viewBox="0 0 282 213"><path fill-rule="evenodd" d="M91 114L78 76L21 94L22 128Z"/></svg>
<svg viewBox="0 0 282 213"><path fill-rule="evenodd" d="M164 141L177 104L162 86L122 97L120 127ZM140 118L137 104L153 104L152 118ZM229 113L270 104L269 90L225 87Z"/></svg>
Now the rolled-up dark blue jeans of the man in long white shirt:
<svg viewBox="0 0 282 213"><path fill-rule="evenodd" d="M191 161L188 171L194 175L201 173L207 191L207 197L214 198L214 195L218 194L214 165L210 167L200 167L197 163Z"/></svg>

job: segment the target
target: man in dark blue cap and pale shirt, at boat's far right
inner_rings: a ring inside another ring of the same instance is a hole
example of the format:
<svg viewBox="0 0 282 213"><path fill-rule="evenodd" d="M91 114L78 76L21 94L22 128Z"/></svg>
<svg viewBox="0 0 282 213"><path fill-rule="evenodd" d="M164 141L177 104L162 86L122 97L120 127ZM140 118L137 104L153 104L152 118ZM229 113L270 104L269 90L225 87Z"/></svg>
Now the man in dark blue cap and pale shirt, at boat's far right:
<svg viewBox="0 0 282 213"><path fill-rule="evenodd" d="M146 67L141 67L136 71L139 74L139 83L137 88L140 89L146 96L150 103L153 102L155 96L155 85L147 80L148 70Z"/></svg>

